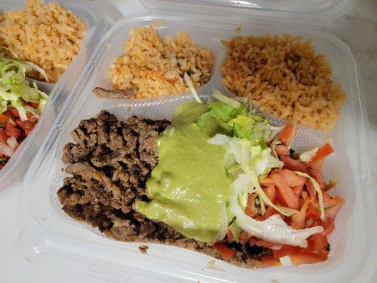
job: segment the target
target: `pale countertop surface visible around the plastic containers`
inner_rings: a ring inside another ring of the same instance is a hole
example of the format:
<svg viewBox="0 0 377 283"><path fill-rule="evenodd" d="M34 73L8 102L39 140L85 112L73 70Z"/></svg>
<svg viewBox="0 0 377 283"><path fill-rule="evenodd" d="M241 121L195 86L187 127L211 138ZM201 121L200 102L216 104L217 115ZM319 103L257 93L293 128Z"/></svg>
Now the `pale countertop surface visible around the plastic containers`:
<svg viewBox="0 0 377 283"><path fill-rule="evenodd" d="M143 13L139 2L112 0L124 15ZM0 4L1 6L1 4ZM361 0L346 15L335 19L327 30L343 40L354 53L361 70L366 108L369 117L369 161L373 188L377 187L377 1ZM27 186L24 187L26 189ZM88 265L78 260L47 253L30 262L16 253L20 233L17 224L17 198L21 184L13 185L0 198L0 282L105 282L88 276ZM376 192L375 192L376 193ZM375 279L377 274L375 273Z"/></svg>

